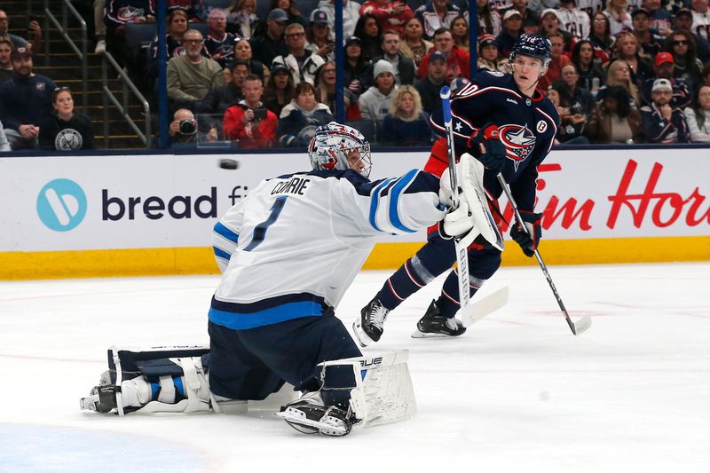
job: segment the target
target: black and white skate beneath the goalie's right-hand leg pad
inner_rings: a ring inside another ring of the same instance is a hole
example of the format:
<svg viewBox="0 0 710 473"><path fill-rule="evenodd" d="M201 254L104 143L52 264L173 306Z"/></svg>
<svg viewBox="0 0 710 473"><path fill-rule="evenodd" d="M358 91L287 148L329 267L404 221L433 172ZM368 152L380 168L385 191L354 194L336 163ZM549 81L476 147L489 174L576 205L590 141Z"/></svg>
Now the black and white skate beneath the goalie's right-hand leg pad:
<svg viewBox="0 0 710 473"><path fill-rule="evenodd" d="M336 406L323 406L312 398L301 398L282 406L280 412L274 415L304 434L319 433L332 437L348 435L353 424L359 422L350 410L346 412Z"/></svg>

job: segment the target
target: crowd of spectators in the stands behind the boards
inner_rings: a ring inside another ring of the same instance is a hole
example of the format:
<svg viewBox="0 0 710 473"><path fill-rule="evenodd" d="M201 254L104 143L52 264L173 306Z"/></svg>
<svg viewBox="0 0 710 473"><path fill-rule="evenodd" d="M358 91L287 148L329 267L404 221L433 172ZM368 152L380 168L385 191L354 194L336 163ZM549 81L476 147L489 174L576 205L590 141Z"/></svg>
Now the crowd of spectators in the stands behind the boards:
<svg viewBox="0 0 710 473"><path fill-rule="evenodd" d="M523 33L550 41L539 87L560 113L558 143L710 142L708 0L477 0L477 44L469 43L467 1L339 1L343 114L379 144L430 144L438 90L468 83L472 48L478 71L507 74ZM126 48L126 27L154 23L154 0L73 3L95 19L95 52L114 54L150 97L161 93L157 51L165 41L172 144L304 146L338 116L335 0L314 9L270 0L265 10L256 0L226 8L168 0L167 35L138 53ZM0 147L5 136L12 149L91 147L91 123L73 112L71 91L32 72L40 42L36 21L24 39L0 11ZM43 137L45 128L54 138ZM67 128L81 145L68 144L67 133L57 138Z"/></svg>

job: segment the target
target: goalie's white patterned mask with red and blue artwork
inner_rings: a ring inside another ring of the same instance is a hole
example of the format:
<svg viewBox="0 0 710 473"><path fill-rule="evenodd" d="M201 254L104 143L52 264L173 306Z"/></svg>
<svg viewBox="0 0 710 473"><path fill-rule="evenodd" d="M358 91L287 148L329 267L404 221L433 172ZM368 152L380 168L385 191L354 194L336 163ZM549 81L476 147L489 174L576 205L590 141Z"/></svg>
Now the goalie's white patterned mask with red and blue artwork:
<svg viewBox="0 0 710 473"><path fill-rule="evenodd" d="M354 160L351 154L359 154ZM369 177L372 169L370 144L358 130L338 122L330 122L316 129L308 145L308 157L313 169L353 169Z"/></svg>

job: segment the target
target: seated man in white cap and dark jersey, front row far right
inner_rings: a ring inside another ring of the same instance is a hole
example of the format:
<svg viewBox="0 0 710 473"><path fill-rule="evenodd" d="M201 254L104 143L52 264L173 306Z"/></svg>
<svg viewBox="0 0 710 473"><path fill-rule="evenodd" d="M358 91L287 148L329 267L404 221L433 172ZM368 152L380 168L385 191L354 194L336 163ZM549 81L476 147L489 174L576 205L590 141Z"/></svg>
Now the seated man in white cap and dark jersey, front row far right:
<svg viewBox="0 0 710 473"><path fill-rule="evenodd" d="M689 143L690 131L682 109L671 106L673 87L668 79L656 79L651 88L651 104L642 106L643 136L649 143Z"/></svg>

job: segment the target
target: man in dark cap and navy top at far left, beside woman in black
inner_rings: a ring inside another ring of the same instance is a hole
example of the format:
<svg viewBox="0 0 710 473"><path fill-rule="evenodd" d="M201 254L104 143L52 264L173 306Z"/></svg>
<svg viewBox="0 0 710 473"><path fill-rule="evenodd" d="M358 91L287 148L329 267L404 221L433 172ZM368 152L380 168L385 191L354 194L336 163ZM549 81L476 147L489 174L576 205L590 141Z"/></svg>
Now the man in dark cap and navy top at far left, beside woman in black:
<svg viewBox="0 0 710 473"><path fill-rule="evenodd" d="M0 86L0 120L12 149L35 148L39 124L52 111L52 93L57 86L49 77L33 72L32 51L12 48L14 77Z"/></svg>

